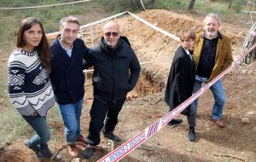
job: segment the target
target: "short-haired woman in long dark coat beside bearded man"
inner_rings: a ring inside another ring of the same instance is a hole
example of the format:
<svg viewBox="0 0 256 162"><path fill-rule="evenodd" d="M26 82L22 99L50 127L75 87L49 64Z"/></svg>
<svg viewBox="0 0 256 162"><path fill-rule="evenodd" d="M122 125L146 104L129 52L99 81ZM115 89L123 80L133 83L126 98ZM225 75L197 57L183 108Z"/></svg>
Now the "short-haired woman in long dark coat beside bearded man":
<svg viewBox="0 0 256 162"><path fill-rule="evenodd" d="M168 112L171 112L192 95L195 83L195 67L191 56L195 41L195 32L183 31L180 40L181 45L177 48L174 55L166 84L165 101L169 106ZM189 141L194 141L195 123L192 122L191 116L195 116L196 112L191 111L191 107L187 107L182 113L188 117ZM177 119L172 120L178 121ZM172 120L169 122L170 124L168 123L169 125L173 124Z"/></svg>

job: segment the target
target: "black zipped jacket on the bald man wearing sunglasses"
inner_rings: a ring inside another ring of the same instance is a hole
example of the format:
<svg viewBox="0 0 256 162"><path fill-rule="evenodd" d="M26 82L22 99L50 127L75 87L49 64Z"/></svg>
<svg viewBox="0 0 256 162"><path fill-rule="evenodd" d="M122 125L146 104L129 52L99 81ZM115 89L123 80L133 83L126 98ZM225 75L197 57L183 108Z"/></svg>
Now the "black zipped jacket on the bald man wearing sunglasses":
<svg viewBox="0 0 256 162"><path fill-rule="evenodd" d="M139 77L140 64L131 44L125 37L119 38L116 49L111 49L104 38L96 47L90 49L90 55L84 59L94 66L94 97L103 101L124 99Z"/></svg>

